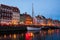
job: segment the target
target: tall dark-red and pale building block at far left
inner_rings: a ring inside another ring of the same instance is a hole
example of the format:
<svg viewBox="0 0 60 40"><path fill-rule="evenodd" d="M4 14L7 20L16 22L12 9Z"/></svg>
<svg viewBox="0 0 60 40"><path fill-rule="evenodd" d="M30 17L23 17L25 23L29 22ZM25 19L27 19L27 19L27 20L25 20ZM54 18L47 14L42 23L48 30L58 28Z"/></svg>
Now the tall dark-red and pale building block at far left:
<svg viewBox="0 0 60 40"><path fill-rule="evenodd" d="M20 11L17 7L0 4L0 23L18 24L20 22Z"/></svg>

